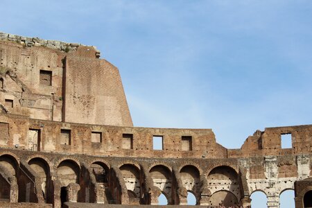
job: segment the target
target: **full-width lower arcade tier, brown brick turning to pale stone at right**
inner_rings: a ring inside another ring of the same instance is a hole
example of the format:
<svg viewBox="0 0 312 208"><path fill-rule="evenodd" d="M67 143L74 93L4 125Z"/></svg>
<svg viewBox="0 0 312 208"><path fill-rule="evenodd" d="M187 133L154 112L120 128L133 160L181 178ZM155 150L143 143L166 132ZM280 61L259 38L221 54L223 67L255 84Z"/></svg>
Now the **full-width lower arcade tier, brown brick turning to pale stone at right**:
<svg viewBox="0 0 312 208"><path fill-rule="evenodd" d="M295 189L295 182L303 181L303 187L297 188L300 196L310 190L311 180L304 181L311 176L304 173L311 172L311 159L312 154L223 159L109 157L2 148L0 175L15 178L15 187L12 179L9 184L19 202L46 201L54 207L65 201L157 205L160 193L169 205L187 205L188 191L197 205L234 207L248 207L251 194L262 191L268 207L278 207L280 194ZM290 165L297 175L285 175L280 168ZM3 168L11 171L1 172ZM257 170L257 175L251 170Z"/></svg>

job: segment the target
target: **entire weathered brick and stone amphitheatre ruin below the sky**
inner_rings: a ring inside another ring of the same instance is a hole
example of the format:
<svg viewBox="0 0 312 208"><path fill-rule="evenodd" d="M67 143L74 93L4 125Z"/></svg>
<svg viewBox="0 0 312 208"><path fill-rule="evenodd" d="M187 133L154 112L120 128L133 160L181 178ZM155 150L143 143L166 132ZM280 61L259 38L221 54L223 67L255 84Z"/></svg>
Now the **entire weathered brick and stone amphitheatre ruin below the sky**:
<svg viewBox="0 0 312 208"><path fill-rule="evenodd" d="M211 129L133 127L119 71L99 57L0 33L0 207L153 207L161 194L250 207L254 191L279 207L288 189L312 207L312 125L257 130L240 149Z"/></svg>

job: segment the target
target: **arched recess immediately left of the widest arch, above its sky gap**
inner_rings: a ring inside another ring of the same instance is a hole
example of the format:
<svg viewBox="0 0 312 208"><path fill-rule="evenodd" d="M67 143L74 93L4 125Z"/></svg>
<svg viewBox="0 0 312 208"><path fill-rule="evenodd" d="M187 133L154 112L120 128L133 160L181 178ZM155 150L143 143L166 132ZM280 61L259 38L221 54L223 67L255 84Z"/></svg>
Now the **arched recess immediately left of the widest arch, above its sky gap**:
<svg viewBox="0 0 312 208"><path fill-rule="evenodd" d="M198 196L200 192L200 172L196 166L187 165L180 171L183 187ZM192 193L192 194L193 194Z"/></svg>

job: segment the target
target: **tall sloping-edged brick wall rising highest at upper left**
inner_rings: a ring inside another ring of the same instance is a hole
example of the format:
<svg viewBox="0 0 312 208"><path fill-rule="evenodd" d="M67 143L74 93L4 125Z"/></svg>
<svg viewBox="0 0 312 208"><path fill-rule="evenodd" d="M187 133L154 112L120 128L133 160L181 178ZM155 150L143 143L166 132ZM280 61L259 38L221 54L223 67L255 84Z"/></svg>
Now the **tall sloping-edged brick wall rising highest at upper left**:
<svg viewBox="0 0 312 208"><path fill-rule="evenodd" d="M0 33L1 109L31 119L132 126L119 70L98 56L93 46Z"/></svg>

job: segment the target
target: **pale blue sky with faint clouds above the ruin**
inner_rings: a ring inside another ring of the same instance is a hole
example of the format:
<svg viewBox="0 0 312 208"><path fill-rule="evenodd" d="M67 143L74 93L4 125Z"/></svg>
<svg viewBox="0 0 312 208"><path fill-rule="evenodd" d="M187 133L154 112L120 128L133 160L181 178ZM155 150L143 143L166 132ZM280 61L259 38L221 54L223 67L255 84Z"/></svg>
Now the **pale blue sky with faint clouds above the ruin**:
<svg viewBox="0 0 312 208"><path fill-rule="evenodd" d="M0 31L95 45L135 126L255 130L312 123L312 1L1 1Z"/></svg>

